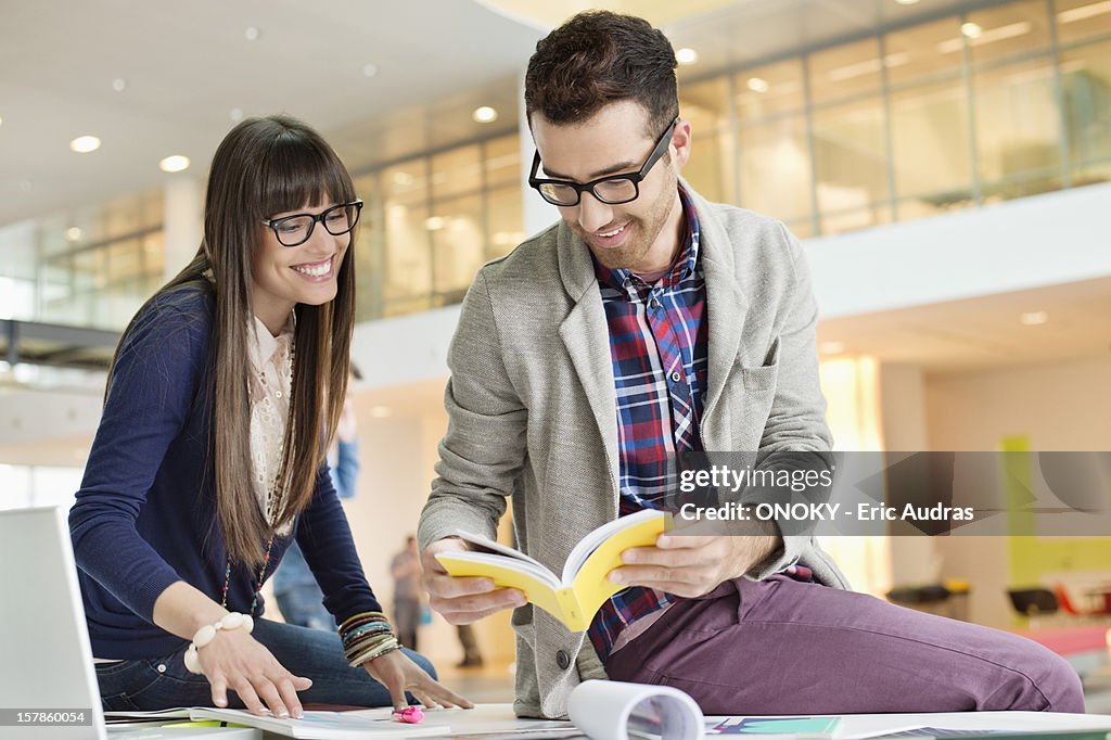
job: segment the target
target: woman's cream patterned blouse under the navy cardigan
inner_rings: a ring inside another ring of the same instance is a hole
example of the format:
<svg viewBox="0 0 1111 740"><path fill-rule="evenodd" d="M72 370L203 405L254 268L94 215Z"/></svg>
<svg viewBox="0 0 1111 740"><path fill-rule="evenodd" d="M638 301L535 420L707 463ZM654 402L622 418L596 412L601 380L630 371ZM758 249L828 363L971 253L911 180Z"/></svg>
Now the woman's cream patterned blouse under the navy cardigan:
<svg viewBox="0 0 1111 740"><path fill-rule="evenodd" d="M273 523L278 502L271 501L274 482L286 451L286 427L289 423L289 394L293 384L293 314L281 333L274 337L254 317L254 331L249 332L248 357L251 382L251 483L267 521ZM287 523L278 531L284 537L292 529Z"/></svg>

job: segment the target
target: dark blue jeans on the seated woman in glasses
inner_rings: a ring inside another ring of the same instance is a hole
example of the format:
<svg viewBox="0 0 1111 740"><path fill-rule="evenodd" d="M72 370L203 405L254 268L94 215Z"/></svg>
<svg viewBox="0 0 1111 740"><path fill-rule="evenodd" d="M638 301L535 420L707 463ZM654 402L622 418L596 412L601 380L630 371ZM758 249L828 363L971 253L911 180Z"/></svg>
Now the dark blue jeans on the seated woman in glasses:
<svg viewBox="0 0 1111 740"><path fill-rule="evenodd" d="M264 644L294 676L312 679L312 686L298 692L302 703L389 707L390 692L370 677L364 668L350 668L343 648L333 632L256 619L251 636ZM170 707L211 707L208 679L186 670L186 647L169 656L118 663L98 663L100 698L109 711L152 711ZM436 669L428 658L402 648L432 678ZM409 697L409 701L413 701ZM228 691L229 706L243 708L234 691Z"/></svg>

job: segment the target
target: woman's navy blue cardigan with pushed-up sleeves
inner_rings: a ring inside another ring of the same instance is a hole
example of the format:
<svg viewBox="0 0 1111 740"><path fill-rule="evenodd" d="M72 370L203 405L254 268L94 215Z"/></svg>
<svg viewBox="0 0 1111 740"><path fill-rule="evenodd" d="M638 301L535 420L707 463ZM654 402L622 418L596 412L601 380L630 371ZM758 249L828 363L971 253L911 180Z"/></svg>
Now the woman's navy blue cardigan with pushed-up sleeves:
<svg viewBox="0 0 1111 740"><path fill-rule="evenodd" d="M216 299L203 287L176 289L143 309L120 344L70 510L97 658L159 658L184 647L186 640L151 621L154 601L176 581L220 600L227 552L216 524L212 401L206 382L214 311ZM327 464L318 471L312 501L293 532L337 622L381 610ZM274 540L267 577L291 539ZM250 610L258 572L233 566L231 611ZM262 613L261 601L256 614Z"/></svg>

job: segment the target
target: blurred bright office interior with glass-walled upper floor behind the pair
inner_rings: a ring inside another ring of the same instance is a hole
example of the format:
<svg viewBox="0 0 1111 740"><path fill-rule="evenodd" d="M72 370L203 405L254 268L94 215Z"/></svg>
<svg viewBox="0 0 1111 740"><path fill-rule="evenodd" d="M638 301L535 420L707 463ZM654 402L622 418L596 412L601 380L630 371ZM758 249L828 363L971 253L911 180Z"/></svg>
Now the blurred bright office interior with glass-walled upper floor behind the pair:
<svg viewBox="0 0 1111 740"><path fill-rule="evenodd" d="M200 242L217 143L288 112L367 202L346 508L388 603L447 423L458 304L483 262L558 218L523 183L521 79L585 7L7 0L0 508L69 506L119 332ZM804 240L838 449L1111 449L1111 1L593 7L644 16L679 50L690 183ZM965 617L999 627L1027 624L1008 588L1111 580L1111 538L825 546L859 590L967 581ZM479 637L512 660L508 619ZM422 640L458 658L438 617Z"/></svg>

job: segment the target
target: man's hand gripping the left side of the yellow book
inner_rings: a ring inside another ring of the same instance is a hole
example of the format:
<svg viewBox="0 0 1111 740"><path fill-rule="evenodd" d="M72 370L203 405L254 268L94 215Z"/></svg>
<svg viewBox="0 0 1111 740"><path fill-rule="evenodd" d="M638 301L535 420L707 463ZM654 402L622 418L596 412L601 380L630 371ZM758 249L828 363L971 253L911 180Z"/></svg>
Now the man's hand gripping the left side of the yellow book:
<svg viewBox="0 0 1111 740"><path fill-rule="evenodd" d="M428 591L428 603L452 624L470 624L502 609L523 607L524 594L518 589L494 588L489 578L453 578L448 574L437 552L467 550L457 537L432 542L420 554L423 573L421 583Z"/></svg>

